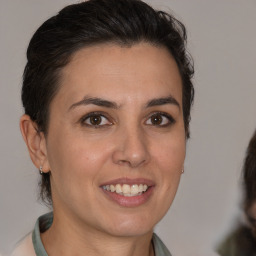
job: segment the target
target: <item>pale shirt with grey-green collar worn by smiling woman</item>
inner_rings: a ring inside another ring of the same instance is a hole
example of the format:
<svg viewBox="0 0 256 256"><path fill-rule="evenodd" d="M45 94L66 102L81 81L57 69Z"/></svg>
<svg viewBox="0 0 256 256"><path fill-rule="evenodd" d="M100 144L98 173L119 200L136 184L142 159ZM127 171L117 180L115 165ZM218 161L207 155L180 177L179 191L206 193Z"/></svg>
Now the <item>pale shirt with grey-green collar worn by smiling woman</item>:
<svg viewBox="0 0 256 256"><path fill-rule="evenodd" d="M35 228L32 233L26 236L16 247L11 256L48 256L40 232L47 230L53 221L53 213L47 213L37 219ZM44 227L43 230L40 227ZM171 256L161 239L154 233L152 238L155 256Z"/></svg>

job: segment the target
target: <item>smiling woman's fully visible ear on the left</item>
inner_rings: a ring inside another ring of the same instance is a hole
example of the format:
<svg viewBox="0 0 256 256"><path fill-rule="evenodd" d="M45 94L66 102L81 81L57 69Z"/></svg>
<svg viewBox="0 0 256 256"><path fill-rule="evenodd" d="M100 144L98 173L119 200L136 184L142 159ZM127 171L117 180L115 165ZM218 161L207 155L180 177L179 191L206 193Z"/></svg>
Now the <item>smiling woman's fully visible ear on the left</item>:
<svg viewBox="0 0 256 256"><path fill-rule="evenodd" d="M38 169L41 166L45 173L49 172L50 166L44 133L39 131L37 124L28 115L23 115L20 118L20 130L34 165Z"/></svg>

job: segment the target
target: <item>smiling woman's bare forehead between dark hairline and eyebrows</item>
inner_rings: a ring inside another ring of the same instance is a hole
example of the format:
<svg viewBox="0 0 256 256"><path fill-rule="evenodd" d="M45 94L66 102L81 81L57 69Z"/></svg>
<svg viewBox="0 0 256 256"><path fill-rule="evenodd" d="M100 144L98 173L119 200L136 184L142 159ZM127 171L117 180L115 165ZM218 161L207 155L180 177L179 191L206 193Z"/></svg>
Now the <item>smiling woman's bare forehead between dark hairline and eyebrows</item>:
<svg viewBox="0 0 256 256"><path fill-rule="evenodd" d="M182 97L181 77L174 58L164 47L148 43L83 48L63 68L60 87L59 94L68 94L70 101L87 94L117 101L152 98L154 94Z"/></svg>

